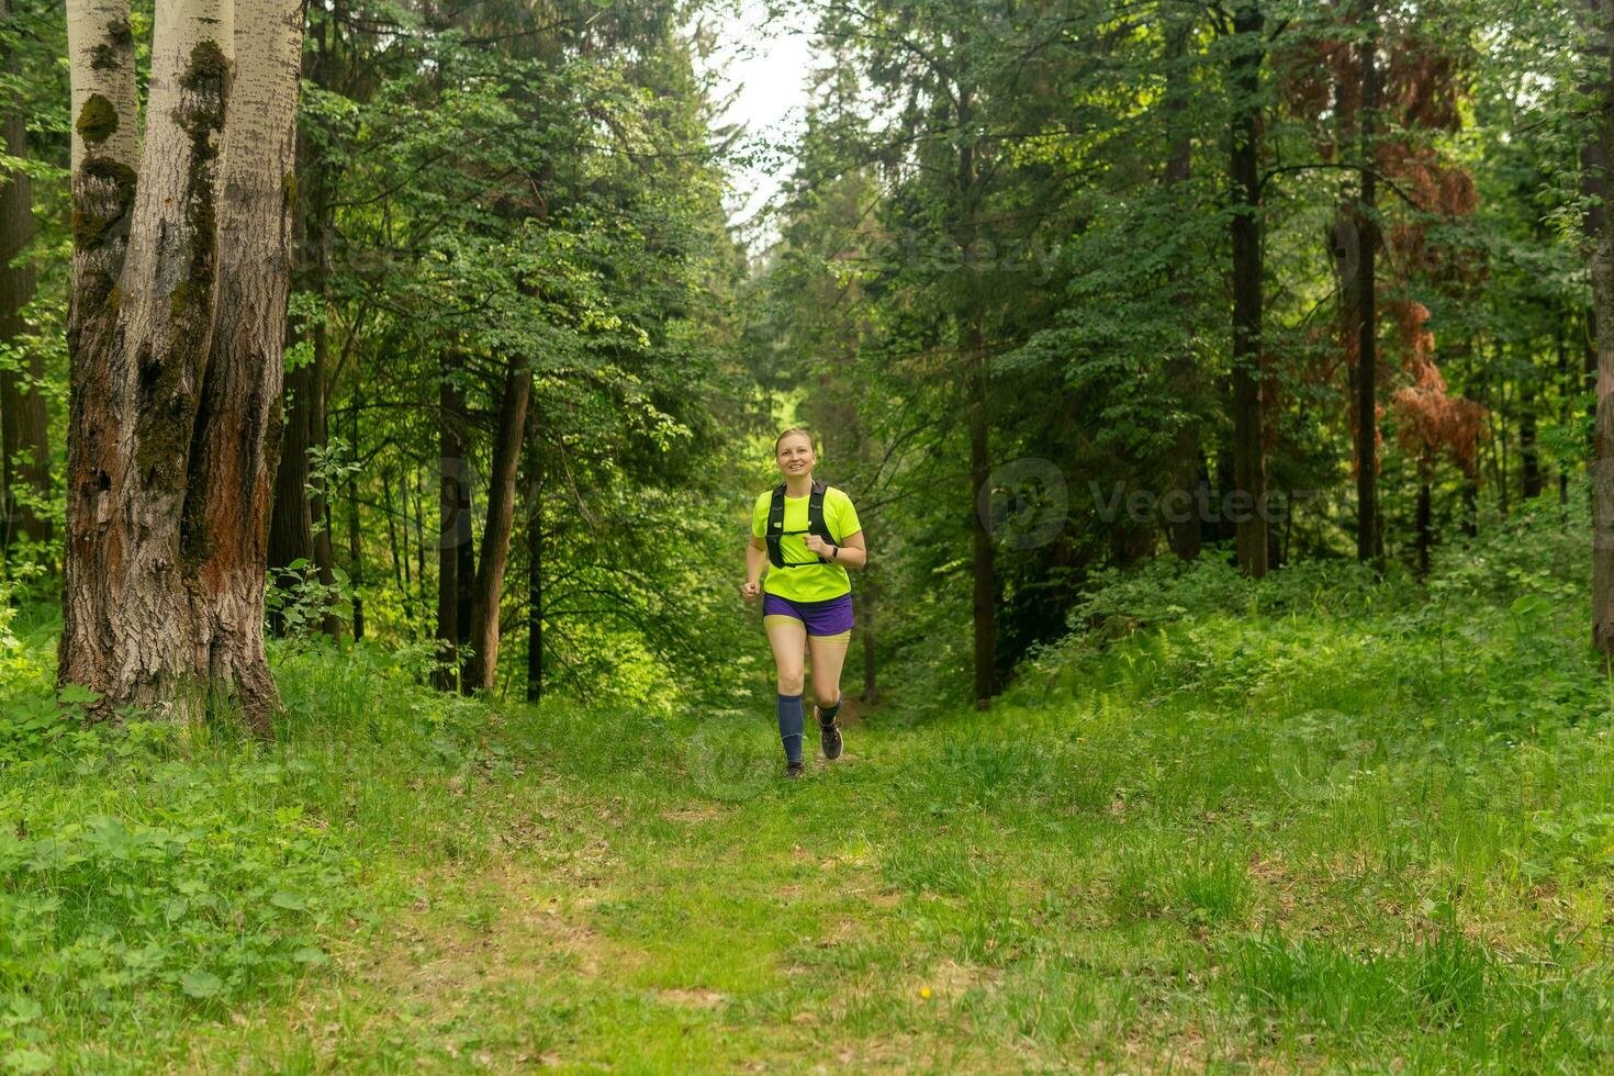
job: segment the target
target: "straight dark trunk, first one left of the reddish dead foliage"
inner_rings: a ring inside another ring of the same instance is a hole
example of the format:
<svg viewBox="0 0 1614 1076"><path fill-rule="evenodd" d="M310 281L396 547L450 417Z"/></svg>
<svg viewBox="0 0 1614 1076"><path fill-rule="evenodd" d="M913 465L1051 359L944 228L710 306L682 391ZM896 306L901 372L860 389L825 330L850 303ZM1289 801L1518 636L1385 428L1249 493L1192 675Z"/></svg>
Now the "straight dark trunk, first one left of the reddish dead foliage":
<svg viewBox="0 0 1614 1076"><path fill-rule="evenodd" d="M1231 177L1236 211L1233 242L1233 482L1238 498L1238 566L1267 574L1265 423L1261 405L1261 63L1264 19L1254 6L1233 16L1240 52L1233 58Z"/></svg>

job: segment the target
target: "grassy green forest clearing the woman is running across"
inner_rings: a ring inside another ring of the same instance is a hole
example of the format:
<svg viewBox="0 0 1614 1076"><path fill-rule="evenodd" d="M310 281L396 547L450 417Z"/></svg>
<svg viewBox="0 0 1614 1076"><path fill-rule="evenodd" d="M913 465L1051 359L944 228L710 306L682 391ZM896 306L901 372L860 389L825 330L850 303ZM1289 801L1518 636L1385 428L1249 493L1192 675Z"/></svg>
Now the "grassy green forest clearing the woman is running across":
<svg viewBox="0 0 1614 1076"><path fill-rule="evenodd" d="M762 705L281 652L271 745L8 740L0 1058L1604 1070L1611 694L1548 587L1138 616L797 784Z"/></svg>

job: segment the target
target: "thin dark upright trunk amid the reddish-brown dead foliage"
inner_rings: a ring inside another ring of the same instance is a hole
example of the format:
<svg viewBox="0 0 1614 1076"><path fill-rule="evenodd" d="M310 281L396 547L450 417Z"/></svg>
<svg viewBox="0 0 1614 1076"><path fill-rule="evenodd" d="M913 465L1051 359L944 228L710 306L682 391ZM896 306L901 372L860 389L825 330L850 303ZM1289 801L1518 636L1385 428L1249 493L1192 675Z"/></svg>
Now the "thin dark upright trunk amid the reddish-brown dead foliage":
<svg viewBox="0 0 1614 1076"><path fill-rule="evenodd" d="M1374 0L1365 19L1377 27ZM1374 255L1378 247L1378 189L1374 171L1374 119L1378 108L1378 32L1362 42L1362 203L1357 242L1356 310L1361 318L1356 345L1356 558L1378 558L1378 297Z"/></svg>

